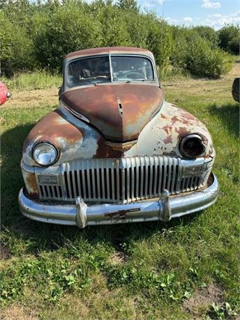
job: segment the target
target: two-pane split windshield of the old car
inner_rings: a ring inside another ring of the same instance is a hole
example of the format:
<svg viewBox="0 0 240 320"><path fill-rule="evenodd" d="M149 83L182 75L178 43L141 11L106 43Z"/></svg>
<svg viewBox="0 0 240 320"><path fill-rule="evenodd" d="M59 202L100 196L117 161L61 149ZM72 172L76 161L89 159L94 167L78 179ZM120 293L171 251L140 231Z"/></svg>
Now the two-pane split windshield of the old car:
<svg viewBox="0 0 240 320"><path fill-rule="evenodd" d="M80 86L111 81L152 81L154 75L151 61L142 56L98 56L69 63L67 79L69 86Z"/></svg>

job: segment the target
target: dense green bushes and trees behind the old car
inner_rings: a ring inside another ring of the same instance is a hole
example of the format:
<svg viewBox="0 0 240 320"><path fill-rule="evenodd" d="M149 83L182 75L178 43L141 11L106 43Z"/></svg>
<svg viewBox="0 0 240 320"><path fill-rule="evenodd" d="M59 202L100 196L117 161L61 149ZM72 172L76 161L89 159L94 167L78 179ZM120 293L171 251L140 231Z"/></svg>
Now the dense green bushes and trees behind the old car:
<svg viewBox="0 0 240 320"><path fill-rule="evenodd" d="M69 52L120 45L151 50L160 70L218 78L239 52L239 26L170 26L135 0L1 0L0 42L8 77L21 70L61 73Z"/></svg>

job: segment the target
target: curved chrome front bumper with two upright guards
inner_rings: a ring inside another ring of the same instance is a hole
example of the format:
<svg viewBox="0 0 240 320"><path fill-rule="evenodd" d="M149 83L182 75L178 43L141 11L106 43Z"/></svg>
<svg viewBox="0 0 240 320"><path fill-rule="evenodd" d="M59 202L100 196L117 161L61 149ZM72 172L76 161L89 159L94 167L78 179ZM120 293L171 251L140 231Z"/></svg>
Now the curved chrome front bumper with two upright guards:
<svg viewBox="0 0 240 320"><path fill-rule="evenodd" d="M23 215L33 220L84 228L94 224L122 222L169 221L172 218L201 211L211 206L218 197L218 180L211 174L211 185L204 190L169 196L165 190L160 199L129 204L98 204L87 206L81 197L76 204L46 204L33 201L20 190L18 201Z"/></svg>

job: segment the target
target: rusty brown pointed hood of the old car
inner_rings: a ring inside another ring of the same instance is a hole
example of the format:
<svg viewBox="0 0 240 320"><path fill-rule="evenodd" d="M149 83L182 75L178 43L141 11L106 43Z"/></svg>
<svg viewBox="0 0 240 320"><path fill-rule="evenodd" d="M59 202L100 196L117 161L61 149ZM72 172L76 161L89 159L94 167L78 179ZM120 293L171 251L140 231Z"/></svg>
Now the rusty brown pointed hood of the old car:
<svg viewBox="0 0 240 320"><path fill-rule="evenodd" d="M163 91L147 84L110 84L77 88L61 95L62 102L87 117L112 142L137 139L163 103Z"/></svg>

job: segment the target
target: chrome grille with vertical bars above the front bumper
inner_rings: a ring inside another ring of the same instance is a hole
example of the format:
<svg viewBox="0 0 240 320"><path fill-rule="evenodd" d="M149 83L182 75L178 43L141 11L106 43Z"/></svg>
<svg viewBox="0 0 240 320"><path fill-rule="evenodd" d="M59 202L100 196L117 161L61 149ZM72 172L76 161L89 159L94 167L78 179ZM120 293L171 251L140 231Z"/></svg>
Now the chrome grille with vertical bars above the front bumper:
<svg viewBox="0 0 240 320"><path fill-rule="evenodd" d="M202 188L212 164L204 164L203 173L185 176L187 166L189 160L157 156L65 162L59 185L39 185L40 197L75 201L80 196L89 203L126 203L160 197L164 189L176 195Z"/></svg>

